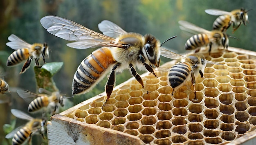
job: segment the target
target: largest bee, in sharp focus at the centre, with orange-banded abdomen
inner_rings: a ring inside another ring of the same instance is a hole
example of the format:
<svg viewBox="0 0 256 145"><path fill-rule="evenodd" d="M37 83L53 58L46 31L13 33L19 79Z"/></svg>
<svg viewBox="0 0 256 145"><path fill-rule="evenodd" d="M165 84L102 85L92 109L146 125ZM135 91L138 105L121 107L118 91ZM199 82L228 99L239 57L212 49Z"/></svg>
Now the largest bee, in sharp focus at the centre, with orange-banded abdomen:
<svg viewBox="0 0 256 145"><path fill-rule="evenodd" d="M120 31L122 29L117 25L115 25L117 29L112 29L117 33L110 30L110 33L117 36L113 38L114 35L112 37L103 35L57 16L45 16L40 22L49 33L65 40L77 41L67 44L69 47L86 49L103 46L86 57L77 68L72 83L72 94L88 92L111 71L106 83L108 100L115 83L115 72L121 72L124 69L129 69L132 76L144 88L144 83L135 70L135 66L139 69L146 68L155 75L153 65L159 66L160 53L165 50L160 47L159 40L152 35L126 33ZM103 27L106 28L107 26L109 25ZM172 52L169 51L169 53Z"/></svg>

